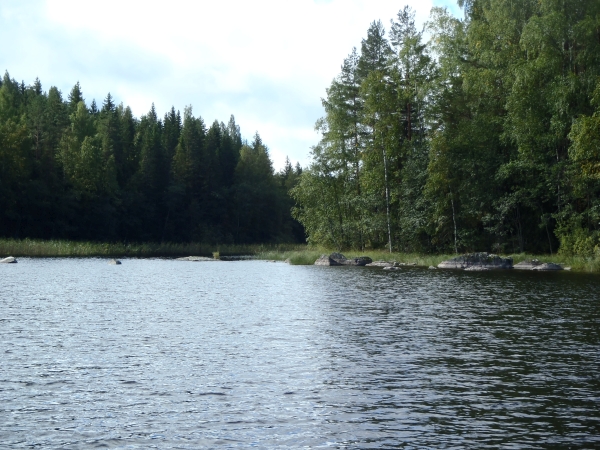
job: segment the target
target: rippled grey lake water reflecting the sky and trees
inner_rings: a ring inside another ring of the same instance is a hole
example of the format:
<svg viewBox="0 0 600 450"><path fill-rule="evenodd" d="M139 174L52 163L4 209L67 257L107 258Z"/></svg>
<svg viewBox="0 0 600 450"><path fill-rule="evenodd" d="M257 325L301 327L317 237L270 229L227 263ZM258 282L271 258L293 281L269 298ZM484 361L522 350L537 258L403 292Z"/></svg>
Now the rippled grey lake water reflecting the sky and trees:
<svg viewBox="0 0 600 450"><path fill-rule="evenodd" d="M600 277L0 265L0 448L600 447Z"/></svg>

